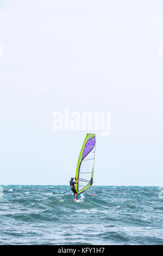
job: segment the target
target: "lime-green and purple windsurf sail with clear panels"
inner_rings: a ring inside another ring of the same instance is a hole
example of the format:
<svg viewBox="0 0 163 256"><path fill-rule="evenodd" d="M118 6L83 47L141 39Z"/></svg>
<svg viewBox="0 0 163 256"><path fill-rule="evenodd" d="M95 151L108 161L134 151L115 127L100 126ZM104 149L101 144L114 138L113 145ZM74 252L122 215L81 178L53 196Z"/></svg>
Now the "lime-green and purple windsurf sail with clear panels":
<svg viewBox="0 0 163 256"><path fill-rule="evenodd" d="M76 184L76 191L78 194L83 193L93 184L95 144L95 134L87 133L83 147L80 151L76 170L76 181L79 179L78 184Z"/></svg>

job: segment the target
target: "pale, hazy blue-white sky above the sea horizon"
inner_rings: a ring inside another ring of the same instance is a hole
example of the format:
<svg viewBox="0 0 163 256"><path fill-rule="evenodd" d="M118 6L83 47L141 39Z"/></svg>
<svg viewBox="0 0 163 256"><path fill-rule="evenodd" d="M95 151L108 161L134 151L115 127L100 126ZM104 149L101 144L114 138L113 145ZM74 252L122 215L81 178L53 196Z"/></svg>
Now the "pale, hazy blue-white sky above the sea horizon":
<svg viewBox="0 0 163 256"><path fill-rule="evenodd" d="M161 0L1 0L0 184L68 185L87 131L53 130L66 106L111 112L110 136L88 131L95 185L163 184L162 13Z"/></svg>

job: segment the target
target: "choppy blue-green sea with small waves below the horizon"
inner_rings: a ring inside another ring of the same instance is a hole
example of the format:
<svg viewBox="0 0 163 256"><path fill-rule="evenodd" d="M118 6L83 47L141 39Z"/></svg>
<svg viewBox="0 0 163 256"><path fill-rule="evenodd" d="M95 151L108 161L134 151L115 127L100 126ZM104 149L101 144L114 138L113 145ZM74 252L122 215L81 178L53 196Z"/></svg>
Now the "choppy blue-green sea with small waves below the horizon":
<svg viewBox="0 0 163 256"><path fill-rule="evenodd" d="M163 245L162 189L0 186L0 245Z"/></svg>

